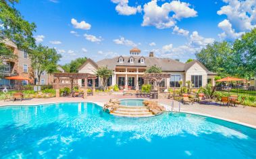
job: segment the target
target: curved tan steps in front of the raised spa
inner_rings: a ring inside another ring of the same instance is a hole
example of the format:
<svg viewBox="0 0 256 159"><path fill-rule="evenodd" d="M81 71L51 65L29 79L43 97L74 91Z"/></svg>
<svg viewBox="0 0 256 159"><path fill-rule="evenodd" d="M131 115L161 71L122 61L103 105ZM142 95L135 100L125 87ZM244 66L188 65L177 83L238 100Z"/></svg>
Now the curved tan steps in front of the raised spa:
<svg viewBox="0 0 256 159"><path fill-rule="evenodd" d="M120 106L112 110L111 115L120 117L153 117L153 113L149 111L145 106Z"/></svg>

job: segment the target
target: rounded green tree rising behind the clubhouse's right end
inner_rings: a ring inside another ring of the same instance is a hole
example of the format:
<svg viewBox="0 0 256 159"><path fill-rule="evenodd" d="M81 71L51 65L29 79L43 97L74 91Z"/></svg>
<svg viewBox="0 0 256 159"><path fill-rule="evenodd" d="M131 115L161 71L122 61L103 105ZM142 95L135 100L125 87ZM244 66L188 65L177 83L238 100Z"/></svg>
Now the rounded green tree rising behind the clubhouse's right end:
<svg viewBox="0 0 256 159"><path fill-rule="evenodd" d="M232 44L229 42L213 42L208 44L196 54L199 60L209 71L219 74L221 77L232 75Z"/></svg>

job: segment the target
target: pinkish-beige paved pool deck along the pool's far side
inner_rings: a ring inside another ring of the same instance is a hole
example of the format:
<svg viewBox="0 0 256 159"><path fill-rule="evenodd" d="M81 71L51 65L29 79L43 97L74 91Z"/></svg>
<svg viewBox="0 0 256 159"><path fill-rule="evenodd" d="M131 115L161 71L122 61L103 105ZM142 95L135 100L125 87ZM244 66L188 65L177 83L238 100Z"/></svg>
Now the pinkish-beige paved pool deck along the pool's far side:
<svg viewBox="0 0 256 159"><path fill-rule="evenodd" d="M111 95L111 96L88 96L87 98L34 98L30 100L20 101L3 101L0 100L1 106L11 105L34 105L34 104L47 104L54 102L95 102L100 106L110 98L136 98L135 96L123 96L123 95ZM147 99L147 98L144 98ZM171 110L171 103L174 101L174 111L178 111L179 102L172 99L158 99L160 104L163 104L169 110ZM220 104L180 104L180 112L192 113L196 115L204 115L207 117L215 117L217 119L223 119L233 123L246 125L256 129L256 108L251 106L220 106Z"/></svg>

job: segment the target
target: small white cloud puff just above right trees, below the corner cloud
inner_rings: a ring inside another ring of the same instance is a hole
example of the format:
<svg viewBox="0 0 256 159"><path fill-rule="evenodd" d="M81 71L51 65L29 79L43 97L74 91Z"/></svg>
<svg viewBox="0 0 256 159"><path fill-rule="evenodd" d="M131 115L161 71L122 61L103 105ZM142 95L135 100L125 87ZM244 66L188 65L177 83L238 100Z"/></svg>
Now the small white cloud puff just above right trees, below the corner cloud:
<svg viewBox="0 0 256 159"><path fill-rule="evenodd" d="M245 32L235 32L234 29L232 29L232 24L230 24L228 20L224 20L220 22L217 26L224 31L222 32L222 34L219 34L220 38L222 39L234 40L236 38L239 38L242 34L245 33Z"/></svg>

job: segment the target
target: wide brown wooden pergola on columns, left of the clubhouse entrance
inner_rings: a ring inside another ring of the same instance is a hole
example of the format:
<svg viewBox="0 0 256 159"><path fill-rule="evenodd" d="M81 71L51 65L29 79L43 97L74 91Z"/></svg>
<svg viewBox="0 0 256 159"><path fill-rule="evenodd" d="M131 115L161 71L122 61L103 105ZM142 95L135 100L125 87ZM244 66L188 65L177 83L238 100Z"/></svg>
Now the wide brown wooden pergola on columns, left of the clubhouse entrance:
<svg viewBox="0 0 256 159"><path fill-rule="evenodd" d="M53 77L57 78L56 80L56 90L59 90L59 79L60 78L69 78L71 84L71 90L74 90L74 79L84 79L84 95L87 94L87 79L93 79L93 94L95 94L95 79L97 79L96 75L91 73L54 73ZM59 97L59 91L56 91L56 97Z"/></svg>

